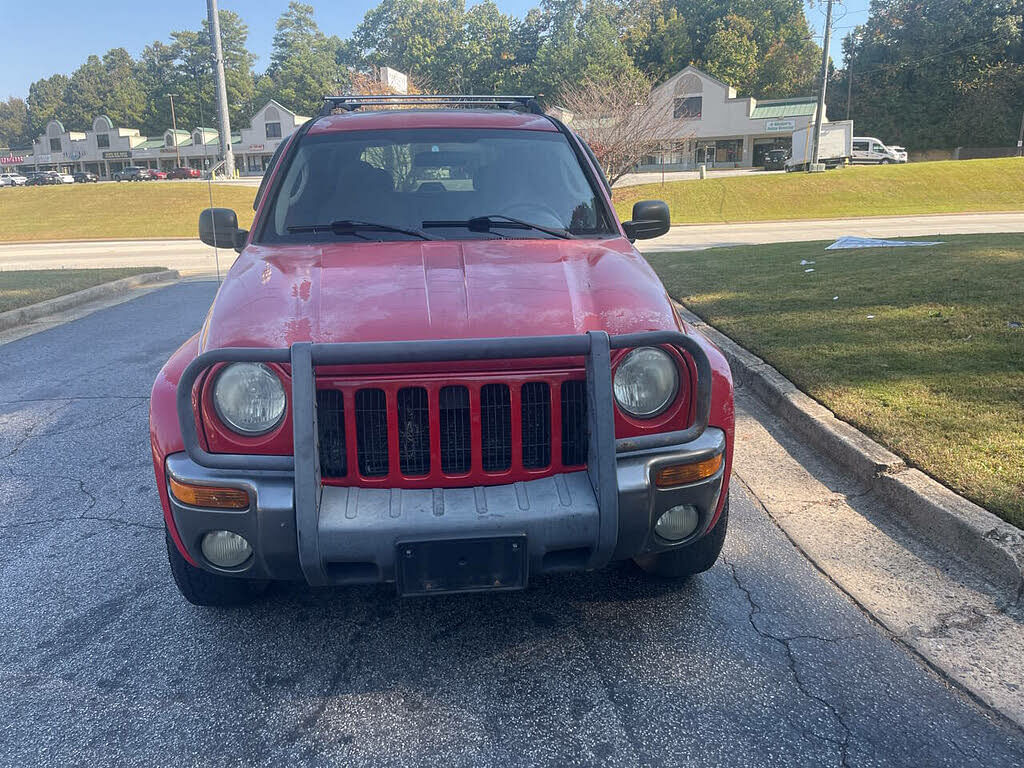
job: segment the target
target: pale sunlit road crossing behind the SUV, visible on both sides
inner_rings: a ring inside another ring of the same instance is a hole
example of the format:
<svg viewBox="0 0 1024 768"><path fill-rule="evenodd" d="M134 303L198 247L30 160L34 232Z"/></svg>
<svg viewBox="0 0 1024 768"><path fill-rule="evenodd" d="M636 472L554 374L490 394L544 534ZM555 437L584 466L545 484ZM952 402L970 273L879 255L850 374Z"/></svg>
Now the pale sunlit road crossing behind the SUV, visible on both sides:
<svg viewBox="0 0 1024 768"><path fill-rule="evenodd" d="M692 251L716 246L831 240L844 234L900 238L920 234L1024 231L1024 213L957 213L936 216L884 216L860 219L759 221L736 224L686 224L641 251ZM213 249L198 240L27 243L0 245L4 269L71 269L113 266L165 266L183 275L226 270L233 251Z"/></svg>

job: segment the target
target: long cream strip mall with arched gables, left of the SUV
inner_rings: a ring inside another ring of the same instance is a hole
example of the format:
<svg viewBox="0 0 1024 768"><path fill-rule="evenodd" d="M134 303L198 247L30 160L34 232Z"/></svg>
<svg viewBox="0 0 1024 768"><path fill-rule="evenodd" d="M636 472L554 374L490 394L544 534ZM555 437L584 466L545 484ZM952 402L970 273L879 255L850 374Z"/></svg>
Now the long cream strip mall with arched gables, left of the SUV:
<svg viewBox="0 0 1024 768"><path fill-rule="evenodd" d="M267 101L253 115L248 128L231 136L238 171L262 174L282 138L308 119L276 101ZM205 170L220 161L220 134L215 128L168 128L162 136L148 137L135 128L115 126L105 115L96 117L88 131L69 131L59 120L51 120L33 142L31 154L11 152L0 158L4 170L90 171L100 178L110 178L129 165L165 171L179 166Z"/></svg>

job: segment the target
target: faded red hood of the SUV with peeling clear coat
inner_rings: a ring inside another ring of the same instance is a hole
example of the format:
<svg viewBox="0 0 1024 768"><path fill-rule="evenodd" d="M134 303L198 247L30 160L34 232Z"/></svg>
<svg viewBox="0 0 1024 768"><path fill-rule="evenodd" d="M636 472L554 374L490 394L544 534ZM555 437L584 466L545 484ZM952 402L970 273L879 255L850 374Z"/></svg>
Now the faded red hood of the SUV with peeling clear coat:
<svg viewBox="0 0 1024 768"><path fill-rule="evenodd" d="M248 247L201 339L212 349L676 327L622 238L330 243Z"/></svg>

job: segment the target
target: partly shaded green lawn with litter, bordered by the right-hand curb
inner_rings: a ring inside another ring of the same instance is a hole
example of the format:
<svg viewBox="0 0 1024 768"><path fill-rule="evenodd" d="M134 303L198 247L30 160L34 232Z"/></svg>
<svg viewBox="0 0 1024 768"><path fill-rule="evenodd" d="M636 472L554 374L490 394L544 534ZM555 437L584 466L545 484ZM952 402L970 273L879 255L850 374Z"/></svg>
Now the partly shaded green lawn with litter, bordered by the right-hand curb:
<svg viewBox="0 0 1024 768"><path fill-rule="evenodd" d="M672 296L839 418L1024 527L1024 234L935 240L648 259Z"/></svg>

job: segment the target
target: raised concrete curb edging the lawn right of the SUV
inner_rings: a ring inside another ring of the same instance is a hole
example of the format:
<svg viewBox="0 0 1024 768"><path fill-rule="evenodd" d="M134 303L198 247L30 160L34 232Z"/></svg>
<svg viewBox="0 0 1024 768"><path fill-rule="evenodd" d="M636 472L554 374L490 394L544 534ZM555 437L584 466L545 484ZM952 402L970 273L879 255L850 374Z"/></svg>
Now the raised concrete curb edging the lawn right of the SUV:
<svg viewBox="0 0 1024 768"><path fill-rule="evenodd" d="M950 553L1020 600L1024 596L1024 531L954 494L831 411L778 371L678 302L680 316L725 355L733 378L757 394L816 450L888 502L897 522Z"/></svg>

